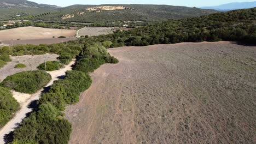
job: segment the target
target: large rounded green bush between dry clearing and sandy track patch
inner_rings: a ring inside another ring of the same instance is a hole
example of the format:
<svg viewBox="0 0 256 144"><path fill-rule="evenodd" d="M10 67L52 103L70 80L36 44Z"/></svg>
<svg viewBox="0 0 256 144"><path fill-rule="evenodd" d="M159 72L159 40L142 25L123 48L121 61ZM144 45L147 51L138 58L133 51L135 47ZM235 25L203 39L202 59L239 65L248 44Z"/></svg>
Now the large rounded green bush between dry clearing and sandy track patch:
<svg viewBox="0 0 256 144"><path fill-rule="evenodd" d="M51 80L51 75L45 71L23 71L8 76L1 85L21 93L36 93Z"/></svg>

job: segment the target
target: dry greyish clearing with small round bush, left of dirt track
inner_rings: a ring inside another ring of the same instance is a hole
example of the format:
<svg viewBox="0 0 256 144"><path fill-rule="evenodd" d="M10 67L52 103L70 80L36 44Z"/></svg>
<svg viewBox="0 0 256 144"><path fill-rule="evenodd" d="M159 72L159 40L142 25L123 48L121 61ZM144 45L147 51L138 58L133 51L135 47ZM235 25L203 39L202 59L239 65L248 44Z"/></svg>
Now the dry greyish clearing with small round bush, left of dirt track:
<svg viewBox="0 0 256 144"><path fill-rule="evenodd" d="M44 55L46 61L57 61L58 55ZM16 73L19 73L21 71L27 71L27 70L36 70L37 66L44 62L44 56L43 55L25 55L25 56L18 56L18 57L10 57L11 62L8 62L6 65L4 65L3 68L0 68L0 81L3 81L7 76L13 75ZM16 69L14 68L16 64L23 63L27 67L22 69Z"/></svg>

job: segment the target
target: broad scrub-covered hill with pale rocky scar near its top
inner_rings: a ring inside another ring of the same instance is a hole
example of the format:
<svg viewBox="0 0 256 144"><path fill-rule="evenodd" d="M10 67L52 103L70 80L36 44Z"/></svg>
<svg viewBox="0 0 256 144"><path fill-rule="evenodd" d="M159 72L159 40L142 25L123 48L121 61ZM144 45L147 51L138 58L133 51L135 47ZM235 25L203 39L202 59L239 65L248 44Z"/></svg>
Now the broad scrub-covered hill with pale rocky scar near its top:
<svg viewBox="0 0 256 144"><path fill-rule="evenodd" d="M88 8L111 6L123 6L125 9L119 10L86 10ZM183 19L217 13L216 10L199 8L177 7L171 5L72 5L62 8L59 12L39 17L45 21L72 21L72 22L113 22L113 21L163 21L168 19ZM62 19L62 16L71 15L73 17Z"/></svg>

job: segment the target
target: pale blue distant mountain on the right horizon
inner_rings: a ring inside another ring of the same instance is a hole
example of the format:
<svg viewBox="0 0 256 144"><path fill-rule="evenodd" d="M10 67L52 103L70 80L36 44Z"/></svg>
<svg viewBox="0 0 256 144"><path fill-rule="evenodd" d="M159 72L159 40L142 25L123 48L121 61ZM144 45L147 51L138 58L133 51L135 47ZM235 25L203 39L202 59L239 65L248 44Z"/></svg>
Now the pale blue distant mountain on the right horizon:
<svg viewBox="0 0 256 144"><path fill-rule="evenodd" d="M214 9L219 11L229 11L229 10L236 10L236 9L249 9L256 7L255 2L237 2L237 3L228 3L222 4L212 7L201 7L202 9Z"/></svg>

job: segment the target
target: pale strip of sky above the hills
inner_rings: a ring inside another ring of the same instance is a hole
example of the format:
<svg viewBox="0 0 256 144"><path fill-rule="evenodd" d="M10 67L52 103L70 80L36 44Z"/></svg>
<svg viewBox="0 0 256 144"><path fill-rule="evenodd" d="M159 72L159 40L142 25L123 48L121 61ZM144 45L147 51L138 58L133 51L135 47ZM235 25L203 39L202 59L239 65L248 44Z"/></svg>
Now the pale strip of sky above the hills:
<svg viewBox="0 0 256 144"><path fill-rule="evenodd" d="M54 4L66 7L73 4L167 4L167 5L183 5L187 7L213 6L232 2L253 2L255 0L28 0L37 3Z"/></svg>

